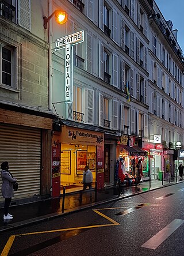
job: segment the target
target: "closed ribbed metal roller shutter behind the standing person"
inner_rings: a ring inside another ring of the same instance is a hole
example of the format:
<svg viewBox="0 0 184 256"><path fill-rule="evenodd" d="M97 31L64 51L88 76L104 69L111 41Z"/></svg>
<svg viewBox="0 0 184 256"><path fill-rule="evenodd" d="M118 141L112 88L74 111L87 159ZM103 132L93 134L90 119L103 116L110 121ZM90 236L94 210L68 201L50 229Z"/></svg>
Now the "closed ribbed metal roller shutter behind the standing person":
<svg viewBox="0 0 184 256"><path fill-rule="evenodd" d="M41 130L1 123L0 145L0 161L9 162L9 170L18 181L19 187L14 192L14 199L39 195Z"/></svg>

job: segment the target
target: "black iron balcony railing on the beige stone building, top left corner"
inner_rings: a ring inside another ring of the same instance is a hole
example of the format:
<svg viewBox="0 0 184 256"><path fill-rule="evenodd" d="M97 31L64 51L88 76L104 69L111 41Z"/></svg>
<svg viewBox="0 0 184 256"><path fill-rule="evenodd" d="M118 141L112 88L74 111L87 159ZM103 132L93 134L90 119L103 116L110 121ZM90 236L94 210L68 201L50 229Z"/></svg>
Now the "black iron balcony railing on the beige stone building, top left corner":
<svg viewBox="0 0 184 256"><path fill-rule="evenodd" d="M0 0L0 15L12 22L16 22L16 7Z"/></svg>

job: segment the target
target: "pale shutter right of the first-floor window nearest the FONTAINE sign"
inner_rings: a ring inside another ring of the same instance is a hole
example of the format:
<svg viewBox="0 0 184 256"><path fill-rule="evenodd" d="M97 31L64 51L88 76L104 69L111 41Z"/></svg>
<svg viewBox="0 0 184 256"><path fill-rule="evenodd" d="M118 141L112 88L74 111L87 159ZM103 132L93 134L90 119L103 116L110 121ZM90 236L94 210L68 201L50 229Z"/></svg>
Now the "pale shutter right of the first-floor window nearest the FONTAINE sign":
<svg viewBox="0 0 184 256"><path fill-rule="evenodd" d="M94 91L87 89L87 123L94 124Z"/></svg>

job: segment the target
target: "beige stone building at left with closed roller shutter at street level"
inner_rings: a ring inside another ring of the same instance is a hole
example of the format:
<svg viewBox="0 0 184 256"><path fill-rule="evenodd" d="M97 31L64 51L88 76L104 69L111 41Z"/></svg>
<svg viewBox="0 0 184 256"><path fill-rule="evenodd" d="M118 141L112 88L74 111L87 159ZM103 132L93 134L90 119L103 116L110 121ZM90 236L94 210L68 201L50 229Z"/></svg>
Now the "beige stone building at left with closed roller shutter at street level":
<svg viewBox="0 0 184 256"><path fill-rule="evenodd" d="M14 199L48 197L55 115L48 107L45 1L0 5L0 159L18 180Z"/></svg>

